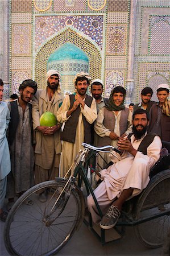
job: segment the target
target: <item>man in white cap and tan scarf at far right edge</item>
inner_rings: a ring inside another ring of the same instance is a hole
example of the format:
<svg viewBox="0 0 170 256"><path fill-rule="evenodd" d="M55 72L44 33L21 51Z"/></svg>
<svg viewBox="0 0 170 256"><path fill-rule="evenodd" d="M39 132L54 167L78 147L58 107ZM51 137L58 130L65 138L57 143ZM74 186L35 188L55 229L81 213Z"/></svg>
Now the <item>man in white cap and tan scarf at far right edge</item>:
<svg viewBox="0 0 170 256"><path fill-rule="evenodd" d="M170 101L169 85L160 84L157 86L157 98L159 102L150 110L149 131L160 135L163 141L170 142Z"/></svg>

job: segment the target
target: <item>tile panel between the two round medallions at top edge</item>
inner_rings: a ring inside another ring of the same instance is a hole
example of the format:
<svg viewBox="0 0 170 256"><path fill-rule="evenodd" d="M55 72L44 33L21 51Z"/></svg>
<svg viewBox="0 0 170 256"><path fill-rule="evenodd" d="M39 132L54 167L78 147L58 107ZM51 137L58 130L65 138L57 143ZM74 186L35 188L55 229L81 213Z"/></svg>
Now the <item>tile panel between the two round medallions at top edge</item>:
<svg viewBox="0 0 170 256"><path fill-rule="evenodd" d="M54 0L53 9L56 11L56 13L85 11L86 0Z"/></svg>

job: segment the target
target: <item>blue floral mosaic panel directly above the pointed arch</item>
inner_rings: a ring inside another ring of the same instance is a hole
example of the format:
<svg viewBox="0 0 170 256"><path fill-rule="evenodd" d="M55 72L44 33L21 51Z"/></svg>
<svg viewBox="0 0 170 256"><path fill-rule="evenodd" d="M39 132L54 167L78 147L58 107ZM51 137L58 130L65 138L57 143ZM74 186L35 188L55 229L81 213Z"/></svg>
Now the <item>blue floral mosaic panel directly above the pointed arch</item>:
<svg viewBox="0 0 170 256"><path fill-rule="evenodd" d="M89 36L102 48L103 15L76 16L36 16L35 18L35 50L40 44L66 25L71 25Z"/></svg>

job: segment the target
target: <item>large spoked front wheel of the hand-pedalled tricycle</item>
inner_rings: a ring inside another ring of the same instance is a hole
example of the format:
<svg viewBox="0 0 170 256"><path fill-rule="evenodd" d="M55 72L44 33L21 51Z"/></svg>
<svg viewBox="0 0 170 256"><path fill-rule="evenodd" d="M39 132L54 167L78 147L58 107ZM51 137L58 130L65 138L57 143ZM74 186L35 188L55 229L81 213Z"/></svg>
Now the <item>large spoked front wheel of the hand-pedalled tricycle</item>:
<svg viewBox="0 0 170 256"><path fill-rule="evenodd" d="M63 179L45 181L28 189L16 201L7 217L4 233L6 249L11 255L53 255L69 241L83 216L84 204L78 189L65 192L65 201L50 213L66 182ZM48 192L45 203L39 201L38 193L42 189ZM55 189L57 193L52 196ZM28 197L33 205L25 204Z"/></svg>

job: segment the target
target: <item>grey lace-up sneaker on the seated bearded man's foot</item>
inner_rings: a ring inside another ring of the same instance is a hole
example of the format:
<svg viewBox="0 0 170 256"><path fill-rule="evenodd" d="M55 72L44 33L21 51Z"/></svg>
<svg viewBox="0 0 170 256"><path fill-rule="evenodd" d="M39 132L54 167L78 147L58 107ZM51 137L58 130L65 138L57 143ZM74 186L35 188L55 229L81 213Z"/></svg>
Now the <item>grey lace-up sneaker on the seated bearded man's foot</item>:
<svg viewBox="0 0 170 256"><path fill-rule="evenodd" d="M118 218L121 216L120 210L115 205L111 205L107 210L107 213L102 217L99 225L102 229L111 229L117 224Z"/></svg>

